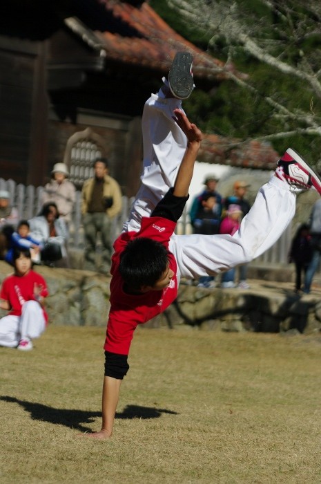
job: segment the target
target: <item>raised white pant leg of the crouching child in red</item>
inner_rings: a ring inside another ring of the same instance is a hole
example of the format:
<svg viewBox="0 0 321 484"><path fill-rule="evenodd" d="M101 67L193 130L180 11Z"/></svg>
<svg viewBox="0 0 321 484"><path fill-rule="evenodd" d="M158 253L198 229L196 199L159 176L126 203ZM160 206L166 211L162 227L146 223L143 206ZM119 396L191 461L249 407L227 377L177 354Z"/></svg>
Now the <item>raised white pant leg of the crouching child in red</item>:
<svg viewBox="0 0 321 484"><path fill-rule="evenodd" d="M26 301L20 317L20 337L38 338L46 328L43 310L37 301Z"/></svg>

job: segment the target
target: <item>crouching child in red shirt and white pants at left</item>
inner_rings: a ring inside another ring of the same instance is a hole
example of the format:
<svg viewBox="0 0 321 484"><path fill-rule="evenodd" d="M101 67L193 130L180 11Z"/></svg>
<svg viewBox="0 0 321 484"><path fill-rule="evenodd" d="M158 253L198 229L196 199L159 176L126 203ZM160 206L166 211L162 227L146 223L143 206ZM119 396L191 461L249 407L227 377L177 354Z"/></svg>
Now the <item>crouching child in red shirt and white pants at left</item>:
<svg viewBox="0 0 321 484"><path fill-rule="evenodd" d="M0 292L0 308L10 310L0 319L0 346L28 351L48 323L43 302L48 289L45 279L31 268L29 249L14 249L13 264L14 274L4 279Z"/></svg>

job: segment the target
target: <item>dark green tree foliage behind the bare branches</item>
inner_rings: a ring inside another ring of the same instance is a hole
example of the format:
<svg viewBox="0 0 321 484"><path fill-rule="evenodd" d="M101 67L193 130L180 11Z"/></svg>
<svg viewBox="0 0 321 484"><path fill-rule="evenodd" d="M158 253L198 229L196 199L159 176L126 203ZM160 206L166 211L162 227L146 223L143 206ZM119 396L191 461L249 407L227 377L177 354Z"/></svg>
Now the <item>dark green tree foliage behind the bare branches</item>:
<svg viewBox="0 0 321 484"><path fill-rule="evenodd" d="M238 0L237 3L240 6L238 21L248 25L249 29L253 29L257 22L255 41L261 48L267 41L269 52L291 66L300 66L304 59L309 59L311 66L320 66L321 49L318 47L321 35L315 29L316 18L308 4L294 0L277 2L281 15L275 15L275 11L261 1ZM233 81L224 81L210 92L196 89L184 106L203 131L242 140L271 136L269 139L277 151L293 146L311 163L320 158L320 136L300 133L300 130L307 128L307 117L310 115L316 125L321 124L320 100L313 95L307 83L258 62L241 45L226 43L225 37L220 34L215 35L209 46L206 43L208 39L200 35L197 25L184 24L182 15L177 10L169 9L166 0L154 0L150 5L177 32L213 57L226 60L232 54L237 70L247 73L249 85L255 88L253 93ZM271 44L271 41L275 43ZM266 102L269 97L294 113L295 117L280 115L280 111ZM279 133L295 130L299 132L286 137L278 136Z"/></svg>

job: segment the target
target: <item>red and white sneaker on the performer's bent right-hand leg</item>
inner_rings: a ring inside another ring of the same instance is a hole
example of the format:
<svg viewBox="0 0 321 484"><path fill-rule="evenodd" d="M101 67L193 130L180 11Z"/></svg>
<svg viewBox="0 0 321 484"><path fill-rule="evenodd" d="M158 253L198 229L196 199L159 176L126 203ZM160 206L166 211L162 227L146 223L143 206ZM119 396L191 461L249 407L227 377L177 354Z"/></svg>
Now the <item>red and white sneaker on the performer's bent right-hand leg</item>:
<svg viewBox="0 0 321 484"><path fill-rule="evenodd" d="M294 149L287 149L278 161L275 175L294 189L309 190L315 188L321 195L321 179Z"/></svg>

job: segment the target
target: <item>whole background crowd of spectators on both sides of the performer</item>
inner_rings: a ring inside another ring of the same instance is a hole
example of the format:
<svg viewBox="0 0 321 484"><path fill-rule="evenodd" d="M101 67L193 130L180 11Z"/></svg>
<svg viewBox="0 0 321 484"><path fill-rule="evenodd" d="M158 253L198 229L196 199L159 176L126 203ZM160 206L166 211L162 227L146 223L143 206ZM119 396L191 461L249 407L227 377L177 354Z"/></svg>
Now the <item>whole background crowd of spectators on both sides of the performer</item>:
<svg viewBox="0 0 321 484"><path fill-rule="evenodd" d="M81 190L81 214L84 227L85 270L109 274L113 254L111 222L121 211L121 188L109 175L108 160L100 157L93 163L94 176L85 181ZM41 192L41 210L29 220L19 219L16 207L10 204L10 192L0 190L0 259L14 266L16 249L30 251L33 264L68 267L68 235L76 201L76 189L68 180L68 167L56 163L52 178ZM251 204L246 199L250 186L244 180L233 183L231 195L217 192L219 179L208 174L204 188L194 196L188 212L195 234L230 234L240 228L242 218ZM97 240L101 241L101 261L97 264ZM315 202L309 220L298 227L289 250L289 263L295 265L295 288L298 294L309 294L321 259L321 201ZM249 288L246 281L248 264L240 264L222 273L222 288ZM238 274L238 277L237 277ZM204 275L197 286L214 288L217 277Z"/></svg>

